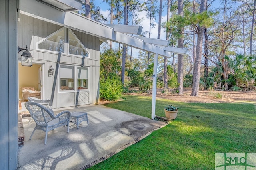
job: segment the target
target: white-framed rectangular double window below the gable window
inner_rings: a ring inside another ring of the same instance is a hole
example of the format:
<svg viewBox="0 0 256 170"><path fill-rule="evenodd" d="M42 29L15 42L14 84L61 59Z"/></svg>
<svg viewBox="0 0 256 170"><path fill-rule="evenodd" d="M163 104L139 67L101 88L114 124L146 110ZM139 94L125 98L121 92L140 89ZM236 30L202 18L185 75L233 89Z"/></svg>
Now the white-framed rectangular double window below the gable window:
<svg viewBox="0 0 256 170"><path fill-rule="evenodd" d="M60 92L90 90L90 67L60 65L59 75Z"/></svg>

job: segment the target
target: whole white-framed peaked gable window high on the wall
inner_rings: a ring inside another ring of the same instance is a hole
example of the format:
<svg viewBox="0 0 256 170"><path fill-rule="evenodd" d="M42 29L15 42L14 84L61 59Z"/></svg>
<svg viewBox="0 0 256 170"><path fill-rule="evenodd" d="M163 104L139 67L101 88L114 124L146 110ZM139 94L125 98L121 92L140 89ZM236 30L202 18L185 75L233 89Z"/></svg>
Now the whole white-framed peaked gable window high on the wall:
<svg viewBox="0 0 256 170"><path fill-rule="evenodd" d="M61 52L67 55L89 57L86 47L69 28L61 28L36 43L37 49Z"/></svg>

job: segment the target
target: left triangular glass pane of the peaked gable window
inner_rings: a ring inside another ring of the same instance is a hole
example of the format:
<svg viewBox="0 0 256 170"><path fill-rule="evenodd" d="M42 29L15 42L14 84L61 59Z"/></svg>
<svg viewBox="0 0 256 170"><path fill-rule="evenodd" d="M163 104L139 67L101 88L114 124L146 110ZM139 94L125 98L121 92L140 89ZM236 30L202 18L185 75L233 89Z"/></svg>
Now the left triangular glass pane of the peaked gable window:
<svg viewBox="0 0 256 170"><path fill-rule="evenodd" d="M48 37L45 41L38 44L38 48L50 51L64 52L65 47L65 30L62 29L52 36Z"/></svg>

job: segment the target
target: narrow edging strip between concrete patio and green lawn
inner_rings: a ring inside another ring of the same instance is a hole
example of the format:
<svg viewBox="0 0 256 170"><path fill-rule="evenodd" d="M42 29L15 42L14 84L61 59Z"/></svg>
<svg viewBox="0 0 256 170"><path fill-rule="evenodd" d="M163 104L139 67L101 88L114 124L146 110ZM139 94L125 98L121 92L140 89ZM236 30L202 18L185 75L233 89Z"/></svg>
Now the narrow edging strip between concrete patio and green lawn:
<svg viewBox="0 0 256 170"><path fill-rule="evenodd" d="M169 121L169 122L165 123L164 125L162 125L162 126L156 128L156 129L154 129L154 130L148 132L147 134L144 134L143 136L140 136L139 138L134 139L134 140L131 141L130 143L128 143L128 144L126 144L126 145L124 145L124 146L118 148L118 149L115 150L114 152L111 152L111 153L107 154L106 156L103 156L102 158L100 158L100 159L98 159L98 160L95 160L94 162L92 162L92 163L90 163L90 164L88 164L88 165L86 165L86 166L80 168L80 170L86 170L86 169L88 169L88 168L90 168L90 167L92 167L92 166L94 166L94 165L96 165L96 164L98 164L98 163L100 163L100 162L103 162L104 160L110 158L111 156L117 154L118 152L121 152L121 151L124 150L125 148L128 148L129 146L131 146L131 145L133 145L133 144L139 142L140 140L146 138L146 137L149 136L152 132L154 132L154 131L156 131L156 130L158 130L158 129L160 129L160 128L165 127L165 126L168 125L169 123L171 123L171 121Z"/></svg>

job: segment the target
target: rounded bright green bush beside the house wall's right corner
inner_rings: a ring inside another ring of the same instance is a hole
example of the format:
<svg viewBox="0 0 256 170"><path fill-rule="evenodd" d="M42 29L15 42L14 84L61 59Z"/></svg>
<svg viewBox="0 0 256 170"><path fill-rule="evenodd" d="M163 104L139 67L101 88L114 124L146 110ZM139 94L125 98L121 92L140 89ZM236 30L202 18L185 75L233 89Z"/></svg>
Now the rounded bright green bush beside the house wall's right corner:
<svg viewBox="0 0 256 170"><path fill-rule="evenodd" d="M123 85L119 78L112 77L100 80L100 97L109 101L116 101L121 97Z"/></svg>

